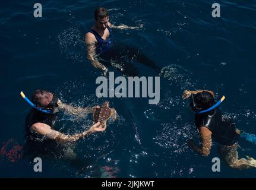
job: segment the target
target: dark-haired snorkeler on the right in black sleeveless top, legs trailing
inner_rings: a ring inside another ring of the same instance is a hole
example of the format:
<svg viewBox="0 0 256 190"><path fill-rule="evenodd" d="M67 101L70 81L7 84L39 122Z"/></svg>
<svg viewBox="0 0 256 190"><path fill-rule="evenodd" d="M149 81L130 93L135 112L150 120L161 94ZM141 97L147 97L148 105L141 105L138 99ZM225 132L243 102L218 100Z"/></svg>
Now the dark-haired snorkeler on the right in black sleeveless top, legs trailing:
<svg viewBox="0 0 256 190"><path fill-rule="evenodd" d="M188 144L194 151L203 156L208 156L211 150L211 139L219 143L220 156L225 162L235 169L248 169L256 167L256 160L252 157L238 159L238 137L240 131L230 119L223 119L217 106L223 102L225 96L219 102L214 102L214 93L210 90L185 90L183 99L190 97L191 109L195 112L195 126L200 132L201 148L195 145L193 140Z"/></svg>

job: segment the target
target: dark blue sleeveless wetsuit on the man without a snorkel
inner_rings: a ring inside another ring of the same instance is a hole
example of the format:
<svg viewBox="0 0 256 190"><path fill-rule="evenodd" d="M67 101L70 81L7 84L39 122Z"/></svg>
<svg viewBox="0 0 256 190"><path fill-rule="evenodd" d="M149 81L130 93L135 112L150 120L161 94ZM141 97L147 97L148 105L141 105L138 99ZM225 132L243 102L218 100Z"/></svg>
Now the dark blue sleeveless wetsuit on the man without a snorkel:
<svg viewBox="0 0 256 190"><path fill-rule="evenodd" d="M160 68L156 66L153 61L148 59L140 50L120 43L114 44L111 40L112 29L108 27L108 30L110 35L106 40L103 40L93 29L87 31L94 34L96 37L96 53L102 59L100 62L102 62L103 65L113 66L113 62L115 62L115 68L130 77L138 76L138 69L131 64L132 62L139 62L153 68L156 72L160 72Z"/></svg>

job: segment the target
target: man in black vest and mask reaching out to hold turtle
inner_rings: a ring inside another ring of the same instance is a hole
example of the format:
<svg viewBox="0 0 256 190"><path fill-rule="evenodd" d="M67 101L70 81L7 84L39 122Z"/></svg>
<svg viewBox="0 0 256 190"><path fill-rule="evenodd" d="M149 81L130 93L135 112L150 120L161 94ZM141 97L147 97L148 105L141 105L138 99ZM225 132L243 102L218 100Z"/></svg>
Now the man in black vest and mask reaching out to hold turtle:
<svg viewBox="0 0 256 190"><path fill-rule="evenodd" d="M30 110L26 118L26 138L27 143L30 143L31 147L36 150L37 148L41 148L47 152L49 147L55 149L59 143L74 142L94 132L105 131L106 129L106 126L102 128L98 122L79 134L63 134L54 129L54 123L59 109L65 110L73 115L79 115L81 113L94 113L96 109L99 109L99 106L83 108L65 105L59 100L57 95L46 90L34 91L31 102L36 107Z"/></svg>

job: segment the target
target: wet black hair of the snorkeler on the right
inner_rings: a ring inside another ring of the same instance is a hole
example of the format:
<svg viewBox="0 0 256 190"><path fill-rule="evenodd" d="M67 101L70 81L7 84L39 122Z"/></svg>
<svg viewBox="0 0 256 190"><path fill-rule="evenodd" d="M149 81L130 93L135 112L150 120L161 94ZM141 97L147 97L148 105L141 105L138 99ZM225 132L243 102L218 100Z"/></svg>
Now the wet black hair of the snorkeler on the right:
<svg viewBox="0 0 256 190"><path fill-rule="evenodd" d="M214 105L214 97L208 91L201 91L194 96L195 104L202 110L208 109Z"/></svg>

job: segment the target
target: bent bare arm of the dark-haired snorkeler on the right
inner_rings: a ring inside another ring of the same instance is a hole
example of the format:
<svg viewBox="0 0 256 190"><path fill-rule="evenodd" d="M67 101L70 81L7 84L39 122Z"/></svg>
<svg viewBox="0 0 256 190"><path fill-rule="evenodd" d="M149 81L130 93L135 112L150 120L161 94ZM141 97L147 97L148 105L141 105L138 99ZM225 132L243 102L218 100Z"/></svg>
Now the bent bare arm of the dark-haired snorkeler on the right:
<svg viewBox="0 0 256 190"><path fill-rule="evenodd" d="M202 156L208 156L211 151L211 131L202 126L200 128L200 135L201 135L201 148L198 148L197 145L195 145L193 140L190 140L188 144L191 146L191 148L194 151L197 151Z"/></svg>

